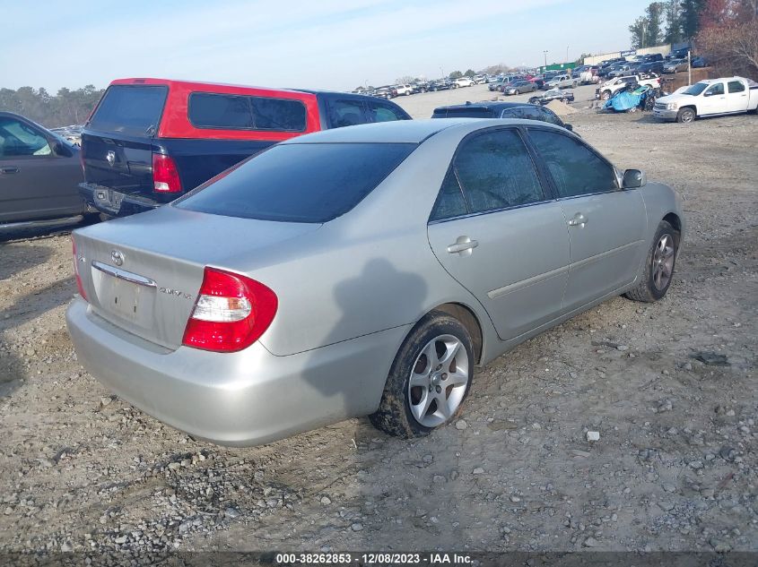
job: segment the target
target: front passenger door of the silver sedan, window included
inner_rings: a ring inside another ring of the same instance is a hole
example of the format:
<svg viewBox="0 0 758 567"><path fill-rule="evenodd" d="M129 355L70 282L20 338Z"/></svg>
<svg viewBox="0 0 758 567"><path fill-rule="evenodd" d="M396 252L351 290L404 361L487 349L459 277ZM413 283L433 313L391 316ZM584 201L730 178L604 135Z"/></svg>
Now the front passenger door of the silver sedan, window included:
<svg viewBox="0 0 758 567"><path fill-rule="evenodd" d="M571 245L567 311L630 283L647 228L640 191L622 190L615 168L576 136L528 128L558 195Z"/></svg>

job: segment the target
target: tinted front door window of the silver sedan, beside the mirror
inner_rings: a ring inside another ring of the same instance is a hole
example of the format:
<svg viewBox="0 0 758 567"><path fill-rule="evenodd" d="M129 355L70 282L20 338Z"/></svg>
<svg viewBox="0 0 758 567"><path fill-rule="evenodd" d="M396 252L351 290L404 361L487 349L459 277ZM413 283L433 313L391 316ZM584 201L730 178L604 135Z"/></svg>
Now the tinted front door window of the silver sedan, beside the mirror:
<svg viewBox="0 0 758 567"><path fill-rule="evenodd" d="M617 188L613 166L583 142L546 130L530 130L529 137L545 160L559 197L606 193Z"/></svg>

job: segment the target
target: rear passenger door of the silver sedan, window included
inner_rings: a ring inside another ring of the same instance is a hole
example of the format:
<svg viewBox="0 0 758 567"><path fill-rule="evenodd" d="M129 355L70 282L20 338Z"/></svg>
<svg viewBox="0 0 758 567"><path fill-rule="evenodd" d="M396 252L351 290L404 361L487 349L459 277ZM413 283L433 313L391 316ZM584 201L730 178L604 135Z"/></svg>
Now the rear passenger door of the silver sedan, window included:
<svg viewBox="0 0 758 567"><path fill-rule="evenodd" d="M501 339L561 313L567 233L561 205L545 191L518 129L461 142L431 213L429 243L484 305Z"/></svg>

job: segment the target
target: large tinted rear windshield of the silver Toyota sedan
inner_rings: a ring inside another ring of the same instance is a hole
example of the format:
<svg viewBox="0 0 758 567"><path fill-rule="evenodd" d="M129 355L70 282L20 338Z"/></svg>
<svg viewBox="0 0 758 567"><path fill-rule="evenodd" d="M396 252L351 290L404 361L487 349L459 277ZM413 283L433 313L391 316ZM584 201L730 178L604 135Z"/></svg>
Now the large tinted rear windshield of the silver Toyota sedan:
<svg viewBox="0 0 758 567"><path fill-rule="evenodd" d="M362 201L410 153L408 143L274 146L175 202L225 217L327 222Z"/></svg>

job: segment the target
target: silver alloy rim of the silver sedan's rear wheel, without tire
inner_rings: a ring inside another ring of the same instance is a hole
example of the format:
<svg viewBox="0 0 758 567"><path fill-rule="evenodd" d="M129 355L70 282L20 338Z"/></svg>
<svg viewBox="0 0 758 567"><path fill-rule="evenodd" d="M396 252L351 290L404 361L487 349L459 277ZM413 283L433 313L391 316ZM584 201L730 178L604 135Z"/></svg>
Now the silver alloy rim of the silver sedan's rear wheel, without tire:
<svg viewBox="0 0 758 567"><path fill-rule="evenodd" d="M414 419L436 427L454 415L466 395L470 365L466 347L453 335L431 339L408 378L408 405Z"/></svg>

